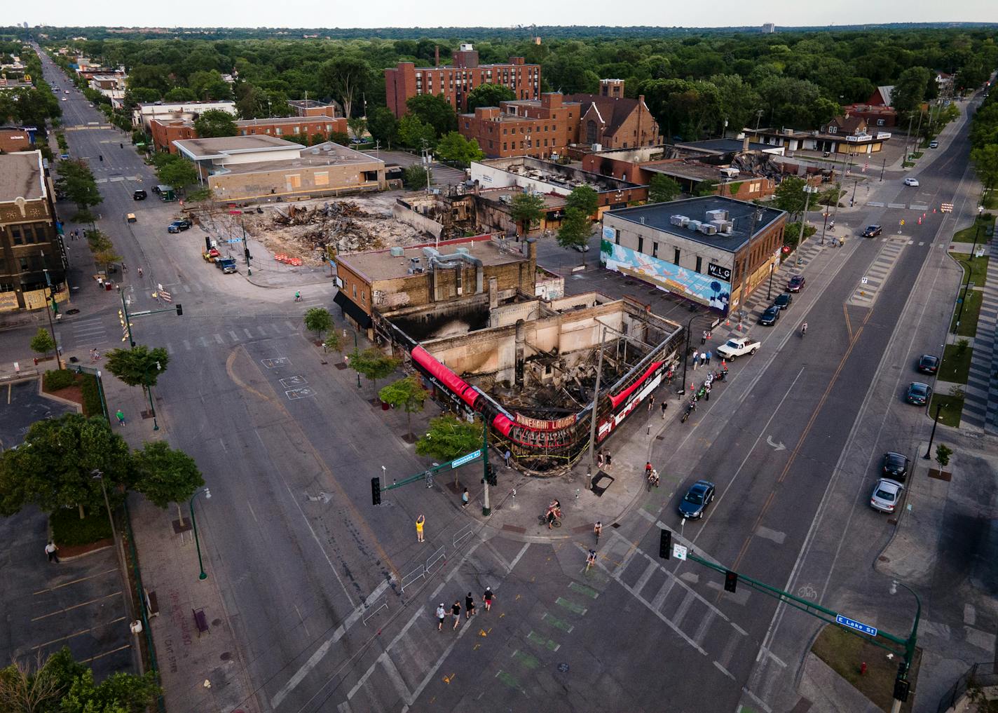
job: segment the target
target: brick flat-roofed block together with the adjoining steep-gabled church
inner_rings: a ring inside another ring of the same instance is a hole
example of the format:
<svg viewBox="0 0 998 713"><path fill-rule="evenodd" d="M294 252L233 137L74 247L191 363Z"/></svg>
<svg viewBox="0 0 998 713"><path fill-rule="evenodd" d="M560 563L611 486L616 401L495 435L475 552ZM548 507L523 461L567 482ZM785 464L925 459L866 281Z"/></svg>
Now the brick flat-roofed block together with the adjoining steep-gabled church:
<svg viewBox="0 0 998 713"><path fill-rule="evenodd" d="M489 158L562 155L570 144L627 149L661 143L645 98L624 96L624 80L604 79L600 94L544 94L540 101L500 102L458 117L458 131Z"/></svg>

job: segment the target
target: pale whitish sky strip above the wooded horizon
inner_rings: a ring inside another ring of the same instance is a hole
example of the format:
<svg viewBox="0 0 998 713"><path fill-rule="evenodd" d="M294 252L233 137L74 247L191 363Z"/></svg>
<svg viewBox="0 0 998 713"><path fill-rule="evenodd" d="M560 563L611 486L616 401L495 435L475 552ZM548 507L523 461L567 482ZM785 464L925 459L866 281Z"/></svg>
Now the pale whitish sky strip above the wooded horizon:
<svg viewBox="0 0 998 713"><path fill-rule="evenodd" d="M238 8L238 12L233 12ZM608 10L617 10L613 16ZM903 9L903 12L901 10ZM652 25L661 27L826 26L888 22L998 22L995 0L282 0L280 3L173 0L47 0L15 3L4 23L109 27L514 27L516 25Z"/></svg>

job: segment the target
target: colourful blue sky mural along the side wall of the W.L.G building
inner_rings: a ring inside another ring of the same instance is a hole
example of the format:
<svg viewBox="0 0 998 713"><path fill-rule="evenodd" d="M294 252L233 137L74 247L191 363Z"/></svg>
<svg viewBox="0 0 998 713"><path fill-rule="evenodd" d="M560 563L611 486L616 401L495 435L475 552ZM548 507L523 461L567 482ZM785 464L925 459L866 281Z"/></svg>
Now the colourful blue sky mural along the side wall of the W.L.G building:
<svg viewBox="0 0 998 713"><path fill-rule="evenodd" d="M610 230L611 233L613 229ZM612 236L611 236L612 238ZM667 263L650 255L617 245L604 235L600 246L600 262L607 270L630 275L651 283L661 290L675 293L688 300L728 312L732 284L710 275Z"/></svg>

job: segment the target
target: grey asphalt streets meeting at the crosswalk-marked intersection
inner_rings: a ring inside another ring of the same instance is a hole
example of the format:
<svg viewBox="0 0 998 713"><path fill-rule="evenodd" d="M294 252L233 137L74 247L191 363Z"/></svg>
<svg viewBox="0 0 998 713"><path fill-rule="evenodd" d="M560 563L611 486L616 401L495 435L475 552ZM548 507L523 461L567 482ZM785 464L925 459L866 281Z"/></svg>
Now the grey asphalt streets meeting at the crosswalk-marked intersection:
<svg viewBox="0 0 998 713"><path fill-rule="evenodd" d="M63 106L67 124L97 121L78 95ZM744 586L724 595L720 575L692 564L662 566L655 523L681 530L698 551L749 576L777 586L792 579L867 394L885 368L890 375L908 369L919 350L939 343L926 332L909 343L908 354L898 358L891 350L920 271L940 252L942 216L904 231L903 240L850 241L823 258L786 317L766 332L765 350L734 365L736 378L710 408L657 442L670 487L617 523L602 544L600 566L586 572L584 531L531 543L512 532L469 530L440 485L396 491L372 510L368 478L381 465L404 477L424 463L367 402L370 385L357 389L350 372L320 363L286 291L206 269L198 256L202 234L166 234L173 207L152 194L132 201L132 177L148 187L152 175L119 147L117 130L76 127L67 134L75 156L104 156L95 166L98 178L108 179L99 210L132 268L126 293L135 309L160 307L151 297L158 284L183 296L184 318L136 320L137 341L171 352L158 389L163 418L172 443L196 457L213 489L199 513L207 564L233 613L260 709L661 710L668 700L673 711L735 710L740 701L778 710L766 700L792 668L777 663L771 675L753 678L757 661L771 658L760 656L760 647L771 648L775 603ZM937 205L960 195L965 137L943 151L920 173L916 200ZM897 198L885 203L913 203L900 176L888 180ZM133 210L139 222L130 229L124 215ZM841 214L839 224L888 227L902 218L914 223L915 215L867 207ZM120 224L110 220L119 216ZM82 257L77 265L82 254L73 250L74 283L90 291L81 296L78 324L93 320L88 330L102 330L113 345L116 296L90 288L85 276L92 268ZM568 260L548 256L551 250L544 247L544 259L567 273ZM595 261L595 251L586 259ZM878 260L887 272L875 300L856 303ZM142 281L134 272L139 265L146 269ZM574 280L568 277L572 291ZM613 283L616 277L590 280L634 288ZM302 307L328 306L332 289L304 294ZM682 309L673 314L679 320ZM795 335L803 319L806 339ZM73 332L72 322L60 329L64 351L101 337ZM885 364L888 351L896 361ZM310 390L295 390L301 388ZM900 390L889 397L898 407L867 444L870 453L901 447L899 440L926 426L923 411L900 403ZM864 454L865 462L847 468L856 497L864 496L873 457ZM681 484L698 477L715 480L722 494L706 520L681 526L676 498ZM428 522L423 544L412 526L420 512ZM837 531L862 542L867 559L890 532L886 518L868 509L827 526L828 536ZM445 559L434 559L441 549ZM399 581L423 566L431 570L425 580L403 592ZM494 611L456 632L447 630L448 620L437 632L436 604L458 596L463 603L467 591L478 598L485 584L499 597ZM390 607L379 613L382 601Z"/></svg>

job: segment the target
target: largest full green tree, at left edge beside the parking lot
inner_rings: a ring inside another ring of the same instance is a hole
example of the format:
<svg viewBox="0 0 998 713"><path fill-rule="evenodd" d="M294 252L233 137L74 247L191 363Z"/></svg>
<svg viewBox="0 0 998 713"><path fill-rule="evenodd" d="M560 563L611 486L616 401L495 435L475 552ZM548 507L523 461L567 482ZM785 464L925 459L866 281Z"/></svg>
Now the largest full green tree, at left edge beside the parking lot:
<svg viewBox="0 0 998 713"><path fill-rule="evenodd" d="M104 507L101 470L113 503L119 486L132 482L128 443L111 430L107 419L67 413L32 423L24 443L0 454L0 515L10 516L28 504L45 512L74 504L85 510Z"/></svg>

